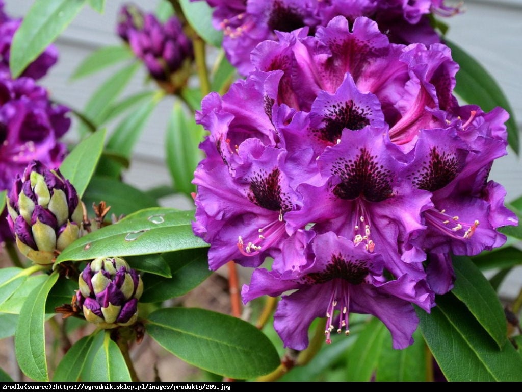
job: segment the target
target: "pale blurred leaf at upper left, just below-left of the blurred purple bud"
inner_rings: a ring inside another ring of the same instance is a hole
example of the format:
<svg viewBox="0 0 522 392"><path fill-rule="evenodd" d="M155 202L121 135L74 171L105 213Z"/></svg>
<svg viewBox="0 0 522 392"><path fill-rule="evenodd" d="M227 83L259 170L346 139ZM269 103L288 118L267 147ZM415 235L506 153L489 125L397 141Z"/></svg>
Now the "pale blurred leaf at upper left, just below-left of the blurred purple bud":
<svg viewBox="0 0 522 392"><path fill-rule="evenodd" d="M127 45L102 47L82 61L70 78L72 80L79 79L101 71L110 65L131 59L134 59L134 53Z"/></svg>

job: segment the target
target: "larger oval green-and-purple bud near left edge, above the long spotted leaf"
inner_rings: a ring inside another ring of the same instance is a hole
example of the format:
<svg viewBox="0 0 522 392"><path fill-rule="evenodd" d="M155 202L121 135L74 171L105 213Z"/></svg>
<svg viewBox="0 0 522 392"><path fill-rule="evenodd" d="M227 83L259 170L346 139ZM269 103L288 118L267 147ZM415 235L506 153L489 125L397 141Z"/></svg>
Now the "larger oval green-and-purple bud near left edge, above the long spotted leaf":
<svg viewBox="0 0 522 392"><path fill-rule="evenodd" d="M7 221L18 249L36 264L52 264L80 236L82 205L58 169L33 160L7 197Z"/></svg>

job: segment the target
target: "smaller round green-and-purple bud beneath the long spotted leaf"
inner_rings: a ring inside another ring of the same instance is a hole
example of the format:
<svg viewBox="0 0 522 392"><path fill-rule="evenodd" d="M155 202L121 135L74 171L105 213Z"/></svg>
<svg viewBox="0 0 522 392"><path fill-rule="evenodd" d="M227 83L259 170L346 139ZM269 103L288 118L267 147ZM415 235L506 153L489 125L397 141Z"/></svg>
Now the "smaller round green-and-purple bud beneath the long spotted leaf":
<svg viewBox="0 0 522 392"><path fill-rule="evenodd" d="M98 257L87 264L78 279L76 303L87 321L100 328L129 326L138 319L143 282L120 257Z"/></svg>

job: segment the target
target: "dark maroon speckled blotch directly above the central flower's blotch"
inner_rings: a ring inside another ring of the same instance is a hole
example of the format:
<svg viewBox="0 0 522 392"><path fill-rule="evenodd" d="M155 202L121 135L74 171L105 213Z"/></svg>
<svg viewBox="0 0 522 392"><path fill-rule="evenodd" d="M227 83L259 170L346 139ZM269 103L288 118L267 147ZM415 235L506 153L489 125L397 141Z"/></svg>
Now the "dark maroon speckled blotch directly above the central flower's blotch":
<svg viewBox="0 0 522 392"><path fill-rule="evenodd" d="M326 110L326 116L323 120L324 128L315 132L319 139L337 143L343 129L355 131L369 125L370 114L370 108L362 108L356 105L352 99L344 103L334 103Z"/></svg>

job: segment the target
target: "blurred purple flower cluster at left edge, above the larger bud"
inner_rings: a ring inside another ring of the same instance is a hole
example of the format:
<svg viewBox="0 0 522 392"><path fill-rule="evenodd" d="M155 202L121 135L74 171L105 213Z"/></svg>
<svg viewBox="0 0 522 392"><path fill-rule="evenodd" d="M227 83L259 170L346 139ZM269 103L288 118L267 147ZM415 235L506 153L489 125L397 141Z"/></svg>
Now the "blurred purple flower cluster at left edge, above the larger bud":
<svg viewBox="0 0 522 392"><path fill-rule="evenodd" d="M16 176L32 160L60 166L67 147L59 139L71 123L69 109L52 103L48 91L35 82L57 61L52 45L19 78L11 78L9 50L20 23L21 19L9 18L0 3L0 191L10 190ZM0 242L14 238L6 217L4 210L0 215Z"/></svg>

